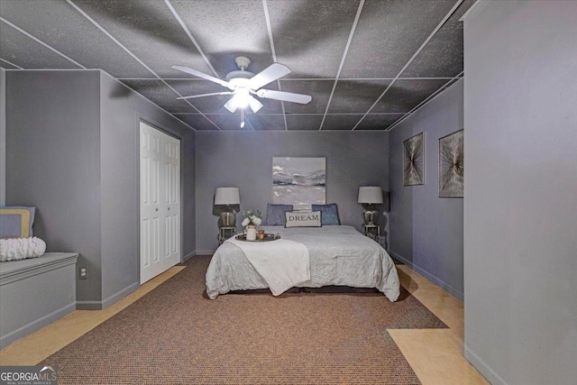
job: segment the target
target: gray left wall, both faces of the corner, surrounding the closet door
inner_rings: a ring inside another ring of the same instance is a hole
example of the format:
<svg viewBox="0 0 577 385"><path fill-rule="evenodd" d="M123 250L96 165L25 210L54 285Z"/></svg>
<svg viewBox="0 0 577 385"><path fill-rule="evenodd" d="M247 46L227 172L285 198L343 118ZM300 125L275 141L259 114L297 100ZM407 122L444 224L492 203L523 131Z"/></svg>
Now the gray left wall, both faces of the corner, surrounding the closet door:
<svg viewBox="0 0 577 385"><path fill-rule="evenodd" d="M48 251L79 252L78 307L138 287L139 119L181 139L183 234L194 234L194 132L99 70L6 72L6 204L36 206ZM195 250L183 237L183 257Z"/></svg>

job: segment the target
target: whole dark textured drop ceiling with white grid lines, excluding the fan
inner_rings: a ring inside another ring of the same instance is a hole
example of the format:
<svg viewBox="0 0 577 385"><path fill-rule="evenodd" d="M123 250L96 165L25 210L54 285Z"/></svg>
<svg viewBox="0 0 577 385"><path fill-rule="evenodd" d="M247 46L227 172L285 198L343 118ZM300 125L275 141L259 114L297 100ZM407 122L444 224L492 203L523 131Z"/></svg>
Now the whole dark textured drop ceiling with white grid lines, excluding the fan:
<svg viewBox="0 0 577 385"><path fill-rule="evenodd" d="M103 69L193 130L240 131L226 88L172 66L224 79L246 56L252 73L291 70L262 88L312 101L254 96L244 130L389 131L463 78L459 19L474 3L0 0L0 67Z"/></svg>

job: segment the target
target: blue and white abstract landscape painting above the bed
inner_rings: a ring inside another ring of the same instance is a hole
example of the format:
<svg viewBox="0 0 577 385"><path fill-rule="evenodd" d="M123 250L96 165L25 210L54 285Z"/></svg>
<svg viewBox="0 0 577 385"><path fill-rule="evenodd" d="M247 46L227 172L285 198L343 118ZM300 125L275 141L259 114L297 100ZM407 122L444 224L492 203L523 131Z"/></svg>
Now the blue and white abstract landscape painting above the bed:
<svg viewBox="0 0 577 385"><path fill-rule="evenodd" d="M326 158L272 158L272 203L310 210L325 197Z"/></svg>

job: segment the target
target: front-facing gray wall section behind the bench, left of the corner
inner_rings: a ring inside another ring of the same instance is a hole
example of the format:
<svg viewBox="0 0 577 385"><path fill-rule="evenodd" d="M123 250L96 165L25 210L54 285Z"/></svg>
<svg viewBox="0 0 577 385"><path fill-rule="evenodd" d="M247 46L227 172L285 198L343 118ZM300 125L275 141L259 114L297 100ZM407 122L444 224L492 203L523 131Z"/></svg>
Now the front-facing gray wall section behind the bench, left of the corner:
<svg viewBox="0 0 577 385"><path fill-rule="evenodd" d="M99 71L6 71L6 205L36 206L47 252L79 252L101 298Z"/></svg>

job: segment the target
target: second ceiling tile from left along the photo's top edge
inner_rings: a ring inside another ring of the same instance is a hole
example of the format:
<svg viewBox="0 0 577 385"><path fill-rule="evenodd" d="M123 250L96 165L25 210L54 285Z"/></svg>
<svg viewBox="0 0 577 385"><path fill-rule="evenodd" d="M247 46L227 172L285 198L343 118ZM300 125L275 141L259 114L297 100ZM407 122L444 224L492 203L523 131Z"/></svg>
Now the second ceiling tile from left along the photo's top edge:
<svg viewBox="0 0 577 385"><path fill-rule="evenodd" d="M162 78L188 78L172 65L212 74L169 7L160 1L74 0Z"/></svg>

